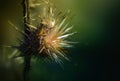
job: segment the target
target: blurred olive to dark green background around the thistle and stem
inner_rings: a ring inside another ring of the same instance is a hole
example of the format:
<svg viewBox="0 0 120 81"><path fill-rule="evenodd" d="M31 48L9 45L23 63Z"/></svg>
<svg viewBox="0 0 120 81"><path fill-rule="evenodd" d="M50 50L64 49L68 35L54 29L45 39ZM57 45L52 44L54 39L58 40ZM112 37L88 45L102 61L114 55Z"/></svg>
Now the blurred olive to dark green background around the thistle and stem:
<svg viewBox="0 0 120 81"><path fill-rule="evenodd" d="M17 44L21 35L8 27L11 20L23 29L22 0L0 0L0 81L21 81L22 64L7 59L11 48L2 45ZM120 81L120 0L52 0L59 9L70 9L70 38L79 42L69 49L71 61L63 67L38 60L32 63L30 81ZM112 59L115 58L114 62Z"/></svg>

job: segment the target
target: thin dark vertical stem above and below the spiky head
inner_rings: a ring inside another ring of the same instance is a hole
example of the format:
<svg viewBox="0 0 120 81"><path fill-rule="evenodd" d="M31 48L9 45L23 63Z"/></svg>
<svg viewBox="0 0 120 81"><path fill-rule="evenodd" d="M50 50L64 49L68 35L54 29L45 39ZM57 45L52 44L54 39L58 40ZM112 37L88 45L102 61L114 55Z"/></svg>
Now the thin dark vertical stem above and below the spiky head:
<svg viewBox="0 0 120 81"><path fill-rule="evenodd" d="M29 10L29 0L23 0L22 3L23 6L23 17L24 17L24 31L25 34L29 36L30 34L30 28L28 27L28 24L30 24L30 10ZM24 37L24 41L28 41L27 37ZM24 69L23 69L23 81L28 81L28 74L30 70L30 64L31 64L31 55L28 51L24 54Z"/></svg>

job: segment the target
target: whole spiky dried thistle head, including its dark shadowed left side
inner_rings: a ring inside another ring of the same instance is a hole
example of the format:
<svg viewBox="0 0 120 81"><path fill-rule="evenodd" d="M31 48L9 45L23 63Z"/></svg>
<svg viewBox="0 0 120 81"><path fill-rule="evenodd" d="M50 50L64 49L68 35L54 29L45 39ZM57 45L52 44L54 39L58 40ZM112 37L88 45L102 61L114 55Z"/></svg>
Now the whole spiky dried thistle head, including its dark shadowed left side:
<svg viewBox="0 0 120 81"><path fill-rule="evenodd" d="M66 47L71 47L70 41L67 38L74 33L69 33L72 26L66 23L68 12L58 12L53 8L49 1L45 1L43 12L39 15L40 23L38 26L27 24L29 34L24 33L24 41L19 46L22 51L22 56L38 55L54 59L60 63L61 59L67 59L64 53Z"/></svg>

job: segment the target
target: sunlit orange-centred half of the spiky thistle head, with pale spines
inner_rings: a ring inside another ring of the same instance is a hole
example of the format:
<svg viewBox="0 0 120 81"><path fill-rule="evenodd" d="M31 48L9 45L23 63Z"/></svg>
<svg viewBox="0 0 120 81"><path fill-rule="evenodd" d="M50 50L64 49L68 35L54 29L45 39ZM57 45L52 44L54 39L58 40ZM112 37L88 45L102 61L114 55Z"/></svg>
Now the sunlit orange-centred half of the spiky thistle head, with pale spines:
<svg viewBox="0 0 120 81"><path fill-rule="evenodd" d="M46 3L47 4L47 3ZM65 47L71 47L67 38L74 33L69 33L72 27L68 27L66 23L67 16L65 14L56 14L55 10L48 4L48 9L41 14L41 30L38 33L40 39L39 53L44 52L55 61L59 62L59 58L65 58Z"/></svg>

